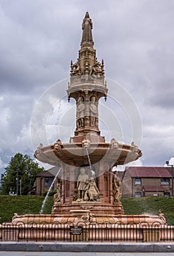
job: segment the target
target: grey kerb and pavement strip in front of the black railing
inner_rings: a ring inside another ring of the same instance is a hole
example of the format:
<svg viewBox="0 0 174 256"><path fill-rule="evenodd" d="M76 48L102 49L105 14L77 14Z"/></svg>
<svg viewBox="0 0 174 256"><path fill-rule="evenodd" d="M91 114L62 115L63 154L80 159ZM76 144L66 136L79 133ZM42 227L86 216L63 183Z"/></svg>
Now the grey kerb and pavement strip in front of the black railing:
<svg viewBox="0 0 174 256"><path fill-rule="evenodd" d="M0 242L0 256L173 255L174 243Z"/></svg>

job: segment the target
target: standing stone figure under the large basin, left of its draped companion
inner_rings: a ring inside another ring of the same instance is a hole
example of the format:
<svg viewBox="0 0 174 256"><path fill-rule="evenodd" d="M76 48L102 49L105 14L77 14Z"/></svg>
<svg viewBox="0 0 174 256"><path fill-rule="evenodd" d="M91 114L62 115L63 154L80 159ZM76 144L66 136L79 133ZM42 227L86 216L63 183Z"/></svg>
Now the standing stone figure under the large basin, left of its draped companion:
<svg viewBox="0 0 174 256"><path fill-rule="evenodd" d="M87 184L88 184L88 175L86 174L86 169L84 167L81 167L80 175L77 178L77 189L79 191L79 198L81 200L84 200Z"/></svg>

